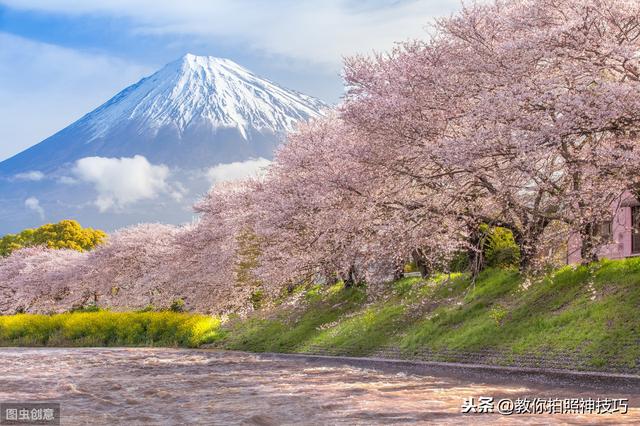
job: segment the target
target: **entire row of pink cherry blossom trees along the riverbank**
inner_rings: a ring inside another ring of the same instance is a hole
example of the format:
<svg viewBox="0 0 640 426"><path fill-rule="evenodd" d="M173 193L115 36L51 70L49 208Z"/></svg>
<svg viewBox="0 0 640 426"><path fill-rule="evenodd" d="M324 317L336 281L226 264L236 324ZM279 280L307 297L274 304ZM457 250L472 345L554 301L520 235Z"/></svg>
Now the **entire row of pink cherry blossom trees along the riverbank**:
<svg viewBox="0 0 640 426"><path fill-rule="evenodd" d="M467 252L477 269L486 225L513 232L522 269L558 229L593 260L612 203L640 192L639 55L636 1L464 7L427 41L348 59L336 111L290 135L263 178L214 187L199 223L124 230L84 255L18 252L0 283L233 310L304 280L375 285L410 258L428 273Z"/></svg>

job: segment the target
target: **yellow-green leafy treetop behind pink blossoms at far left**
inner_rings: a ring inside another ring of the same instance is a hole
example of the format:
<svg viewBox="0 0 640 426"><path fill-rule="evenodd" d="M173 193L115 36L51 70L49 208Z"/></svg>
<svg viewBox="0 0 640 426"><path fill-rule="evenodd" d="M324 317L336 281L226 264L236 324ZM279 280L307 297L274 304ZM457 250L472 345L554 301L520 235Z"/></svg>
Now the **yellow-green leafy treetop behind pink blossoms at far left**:
<svg viewBox="0 0 640 426"><path fill-rule="evenodd" d="M23 247L44 245L53 249L91 250L103 243L107 234L99 229L83 228L75 220L48 223L36 229L0 238L0 256L9 256Z"/></svg>

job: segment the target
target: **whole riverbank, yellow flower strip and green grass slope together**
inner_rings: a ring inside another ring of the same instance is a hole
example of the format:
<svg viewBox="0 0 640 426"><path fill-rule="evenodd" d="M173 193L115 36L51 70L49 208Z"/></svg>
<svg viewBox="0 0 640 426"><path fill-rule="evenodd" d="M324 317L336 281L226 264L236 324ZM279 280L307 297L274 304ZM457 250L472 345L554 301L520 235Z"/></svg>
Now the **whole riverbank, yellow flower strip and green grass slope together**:
<svg viewBox="0 0 640 426"><path fill-rule="evenodd" d="M485 363L555 357L566 361L558 368L573 368L576 359L576 368L640 371L640 258L566 267L527 282L516 271L488 269L475 284L454 274L405 278L386 288L372 301L365 287L299 287L277 306L224 325L170 311L0 316L0 346L212 343L252 352L354 356L392 348L409 359L424 353ZM488 352L493 355L480 360L459 356Z"/></svg>

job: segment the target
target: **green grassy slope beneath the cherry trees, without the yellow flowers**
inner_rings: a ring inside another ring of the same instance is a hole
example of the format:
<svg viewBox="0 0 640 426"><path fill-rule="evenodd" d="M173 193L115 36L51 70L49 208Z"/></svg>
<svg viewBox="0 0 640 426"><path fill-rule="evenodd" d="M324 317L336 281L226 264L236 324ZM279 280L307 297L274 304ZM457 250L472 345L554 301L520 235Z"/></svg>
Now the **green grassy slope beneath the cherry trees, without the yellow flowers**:
<svg viewBox="0 0 640 426"><path fill-rule="evenodd" d="M373 302L364 289L341 286L297 297L306 303L230 321L219 345L359 356L384 347L407 357L493 351L505 360L570 353L590 369L640 367L640 259L566 267L528 283L516 271L498 269L482 273L475 285L462 274L405 278Z"/></svg>

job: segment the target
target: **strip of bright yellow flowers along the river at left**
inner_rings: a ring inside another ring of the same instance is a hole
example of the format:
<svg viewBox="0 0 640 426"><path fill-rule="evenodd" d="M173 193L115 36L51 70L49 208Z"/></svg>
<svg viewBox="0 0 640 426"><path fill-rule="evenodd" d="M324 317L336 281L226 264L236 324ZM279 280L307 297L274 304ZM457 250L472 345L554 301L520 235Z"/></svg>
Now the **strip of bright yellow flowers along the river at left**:
<svg viewBox="0 0 640 426"><path fill-rule="evenodd" d="M0 316L0 346L182 346L218 337L216 318L178 312Z"/></svg>

